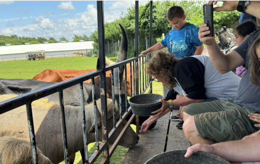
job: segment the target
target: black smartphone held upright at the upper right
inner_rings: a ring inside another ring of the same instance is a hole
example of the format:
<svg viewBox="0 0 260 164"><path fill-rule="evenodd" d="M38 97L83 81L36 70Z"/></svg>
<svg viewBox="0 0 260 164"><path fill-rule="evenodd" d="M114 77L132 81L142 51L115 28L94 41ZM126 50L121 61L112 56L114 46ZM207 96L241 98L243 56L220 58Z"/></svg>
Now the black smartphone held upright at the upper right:
<svg viewBox="0 0 260 164"><path fill-rule="evenodd" d="M204 23L207 24L210 30L210 34L205 35L205 36L214 36L214 27L213 27L213 4L203 5L203 15L204 15Z"/></svg>

